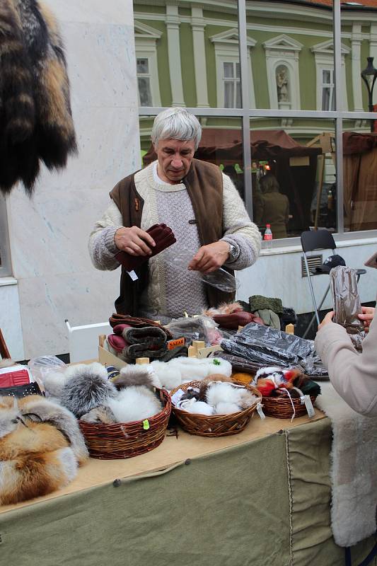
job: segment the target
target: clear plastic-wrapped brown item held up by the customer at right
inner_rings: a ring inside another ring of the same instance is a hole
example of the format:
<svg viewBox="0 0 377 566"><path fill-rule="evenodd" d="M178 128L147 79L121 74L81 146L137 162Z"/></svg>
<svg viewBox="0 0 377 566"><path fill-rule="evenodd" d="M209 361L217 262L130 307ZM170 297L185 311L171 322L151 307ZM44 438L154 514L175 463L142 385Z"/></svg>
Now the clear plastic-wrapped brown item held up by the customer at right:
<svg viewBox="0 0 377 566"><path fill-rule="evenodd" d="M364 323L358 318L362 313L356 270L337 265L330 271L330 288L334 304L333 321L342 325L349 334L356 350L361 352L365 337Z"/></svg>

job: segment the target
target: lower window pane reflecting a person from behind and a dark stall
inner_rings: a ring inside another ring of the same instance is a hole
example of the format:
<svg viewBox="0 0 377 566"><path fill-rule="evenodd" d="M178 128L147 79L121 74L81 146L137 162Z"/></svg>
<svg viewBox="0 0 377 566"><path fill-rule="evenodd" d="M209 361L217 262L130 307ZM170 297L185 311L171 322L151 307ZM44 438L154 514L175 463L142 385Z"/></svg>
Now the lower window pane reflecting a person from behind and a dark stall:
<svg viewBox="0 0 377 566"><path fill-rule="evenodd" d="M262 233L271 225L274 239L300 236L313 227L336 231L332 122L313 123L313 129L308 122L291 135L274 129L274 120L251 124L253 217Z"/></svg>

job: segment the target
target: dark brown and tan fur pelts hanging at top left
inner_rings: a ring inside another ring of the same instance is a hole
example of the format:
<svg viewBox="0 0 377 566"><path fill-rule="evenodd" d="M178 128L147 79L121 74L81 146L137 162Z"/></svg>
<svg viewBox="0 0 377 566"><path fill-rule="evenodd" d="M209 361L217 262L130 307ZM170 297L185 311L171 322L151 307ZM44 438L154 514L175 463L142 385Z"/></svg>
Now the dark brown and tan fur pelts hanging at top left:
<svg viewBox="0 0 377 566"><path fill-rule="evenodd" d="M32 195L40 161L66 166L76 152L62 37L37 0L0 2L0 190Z"/></svg>

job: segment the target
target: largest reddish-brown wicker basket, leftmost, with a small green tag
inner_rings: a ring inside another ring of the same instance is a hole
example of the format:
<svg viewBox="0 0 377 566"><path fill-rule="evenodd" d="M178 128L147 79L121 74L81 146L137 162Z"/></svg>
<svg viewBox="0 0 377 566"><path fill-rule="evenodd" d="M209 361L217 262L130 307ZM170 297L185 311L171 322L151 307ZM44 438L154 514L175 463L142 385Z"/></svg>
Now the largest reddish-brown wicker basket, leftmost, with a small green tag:
<svg viewBox="0 0 377 566"><path fill-rule="evenodd" d="M101 460L132 458L157 448L165 438L171 411L168 391L161 389L159 393L164 407L161 412L148 419L148 429L144 428L145 421L95 424L79 420L79 427L91 457Z"/></svg>

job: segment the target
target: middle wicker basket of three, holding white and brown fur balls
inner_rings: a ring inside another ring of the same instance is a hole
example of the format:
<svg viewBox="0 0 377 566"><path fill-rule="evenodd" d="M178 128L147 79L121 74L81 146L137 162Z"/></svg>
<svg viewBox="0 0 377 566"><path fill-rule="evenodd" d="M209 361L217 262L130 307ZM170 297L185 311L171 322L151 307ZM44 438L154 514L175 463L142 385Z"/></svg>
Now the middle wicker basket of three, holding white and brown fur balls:
<svg viewBox="0 0 377 566"><path fill-rule="evenodd" d="M262 400L261 393L255 389L255 387L245 385L245 383L240 383L240 381L233 381L233 383L245 387L245 389L254 393L259 400ZM173 391L170 391L170 395L173 395L178 389L186 391L189 387L199 387L199 385L200 381L183 383L181 386L173 389ZM200 437L226 437L230 434L238 434L238 432L241 432L246 424L248 424L256 408L257 403L244 411L233 412L231 415L213 416L195 415L174 406L172 407L172 411L175 417L177 417L182 429L190 432L190 434L197 434Z"/></svg>

